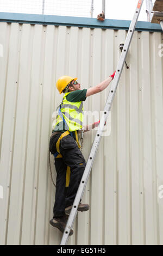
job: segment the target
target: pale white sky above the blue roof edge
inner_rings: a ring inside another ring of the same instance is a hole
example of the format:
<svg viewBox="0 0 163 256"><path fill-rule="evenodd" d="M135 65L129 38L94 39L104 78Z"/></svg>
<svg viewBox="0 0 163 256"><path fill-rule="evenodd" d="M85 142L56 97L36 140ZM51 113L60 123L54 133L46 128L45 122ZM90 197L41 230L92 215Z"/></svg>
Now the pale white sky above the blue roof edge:
<svg viewBox="0 0 163 256"><path fill-rule="evenodd" d="M45 14L61 16L91 17L91 0L44 0ZM93 17L102 11L102 0L94 0ZM155 0L153 0L154 4ZM0 11L13 13L42 13L43 0L0 0ZM105 0L105 18L132 20L138 0ZM147 21L146 0L139 21Z"/></svg>

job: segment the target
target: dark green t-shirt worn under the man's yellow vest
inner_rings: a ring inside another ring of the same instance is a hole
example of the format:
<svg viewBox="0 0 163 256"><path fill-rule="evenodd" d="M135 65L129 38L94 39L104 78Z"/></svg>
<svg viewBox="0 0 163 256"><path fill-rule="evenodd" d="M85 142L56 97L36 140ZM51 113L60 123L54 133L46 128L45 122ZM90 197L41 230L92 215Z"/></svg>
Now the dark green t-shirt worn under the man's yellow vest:
<svg viewBox="0 0 163 256"><path fill-rule="evenodd" d="M70 102L85 101L86 100L86 92L87 92L87 89L75 90L74 92L71 92L66 96L66 100L70 101ZM64 121L60 122L57 126L55 126L55 129L53 130L53 132L54 131L65 132L66 129L63 130L63 128L65 129ZM73 134L73 137L74 137L74 134Z"/></svg>

